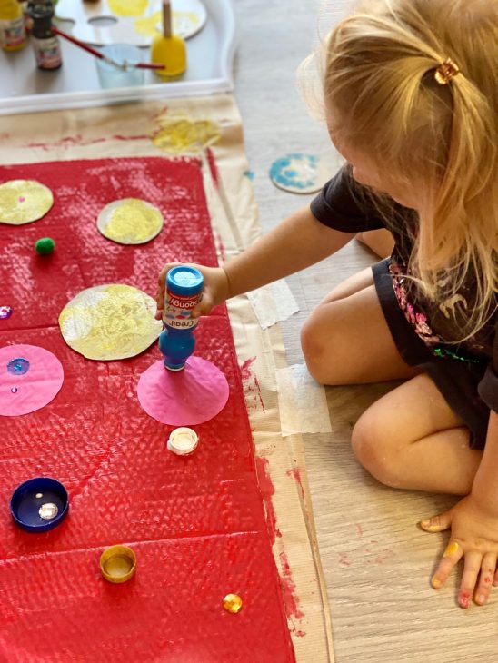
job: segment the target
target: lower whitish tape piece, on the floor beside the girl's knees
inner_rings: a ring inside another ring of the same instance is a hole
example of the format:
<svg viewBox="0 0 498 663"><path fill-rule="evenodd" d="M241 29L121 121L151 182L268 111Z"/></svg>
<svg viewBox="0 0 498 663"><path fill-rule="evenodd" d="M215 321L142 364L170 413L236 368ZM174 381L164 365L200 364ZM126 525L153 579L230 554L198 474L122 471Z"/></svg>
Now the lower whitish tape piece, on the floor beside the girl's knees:
<svg viewBox="0 0 498 663"><path fill-rule="evenodd" d="M305 364L277 369L278 408L283 437L332 431L324 387Z"/></svg>

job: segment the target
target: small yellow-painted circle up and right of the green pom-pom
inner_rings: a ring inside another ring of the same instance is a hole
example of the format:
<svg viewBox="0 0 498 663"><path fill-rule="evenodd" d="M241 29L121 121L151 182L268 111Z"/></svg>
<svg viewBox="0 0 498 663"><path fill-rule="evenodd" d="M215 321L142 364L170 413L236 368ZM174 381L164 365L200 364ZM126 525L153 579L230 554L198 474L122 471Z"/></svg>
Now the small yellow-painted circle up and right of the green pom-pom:
<svg viewBox="0 0 498 663"><path fill-rule="evenodd" d="M139 198L123 198L105 205L97 228L119 244L144 244L161 232L164 219L157 207Z"/></svg>

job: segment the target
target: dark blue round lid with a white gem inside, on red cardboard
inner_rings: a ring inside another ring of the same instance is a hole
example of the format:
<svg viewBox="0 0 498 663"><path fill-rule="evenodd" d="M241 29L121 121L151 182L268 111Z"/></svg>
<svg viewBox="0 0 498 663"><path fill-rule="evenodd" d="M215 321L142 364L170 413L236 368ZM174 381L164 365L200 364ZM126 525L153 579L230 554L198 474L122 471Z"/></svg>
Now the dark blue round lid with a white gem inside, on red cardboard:
<svg viewBox="0 0 498 663"><path fill-rule="evenodd" d="M69 497L60 481L35 477L21 483L10 499L15 523L28 532L54 529L67 515Z"/></svg>

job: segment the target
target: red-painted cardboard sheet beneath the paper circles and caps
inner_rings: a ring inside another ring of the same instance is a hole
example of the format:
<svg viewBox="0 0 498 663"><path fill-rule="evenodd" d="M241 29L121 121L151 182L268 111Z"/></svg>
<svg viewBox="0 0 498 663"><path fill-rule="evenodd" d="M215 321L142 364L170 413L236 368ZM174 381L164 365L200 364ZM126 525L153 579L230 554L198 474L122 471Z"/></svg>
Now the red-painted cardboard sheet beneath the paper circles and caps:
<svg viewBox="0 0 498 663"><path fill-rule="evenodd" d="M217 663L235 651L241 661L291 663L272 550L280 536L274 487L264 460L254 460L226 308L199 323L196 353L224 371L230 398L196 427L202 444L189 458L165 450L170 428L136 399L138 377L160 359L157 344L126 361L87 361L57 326L65 303L86 287L121 282L154 295L164 262L216 264L198 160L0 167L0 181L12 179L45 183L55 203L36 223L0 224L0 246L8 247L2 295L15 309L2 321L0 341L53 351L65 382L42 410L1 418L9 443L0 446L0 465L8 468L0 499L5 504L21 481L47 475L65 484L71 506L60 527L41 535L17 529L0 510L0 586L9 604L0 660ZM171 223L145 245L109 242L95 218L120 197L146 198ZM41 236L55 240L49 260L33 249ZM136 575L124 585L99 573L101 551L115 543L137 556ZM244 599L237 616L221 605L229 592Z"/></svg>

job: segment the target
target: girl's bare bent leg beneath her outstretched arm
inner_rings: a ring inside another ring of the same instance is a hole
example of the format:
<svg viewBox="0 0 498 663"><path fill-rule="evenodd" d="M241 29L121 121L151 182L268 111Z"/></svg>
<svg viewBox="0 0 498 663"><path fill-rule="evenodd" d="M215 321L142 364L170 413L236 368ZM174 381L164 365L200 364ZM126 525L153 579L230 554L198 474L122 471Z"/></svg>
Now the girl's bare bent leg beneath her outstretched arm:
<svg viewBox="0 0 498 663"><path fill-rule="evenodd" d="M308 370L323 384L411 378L394 344L370 268L330 292L304 322L301 344Z"/></svg>

